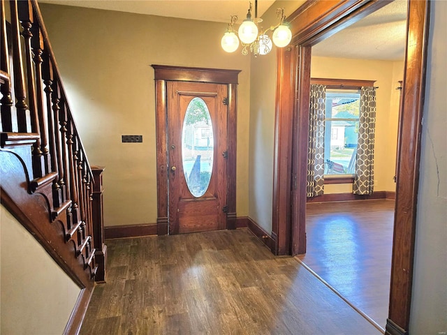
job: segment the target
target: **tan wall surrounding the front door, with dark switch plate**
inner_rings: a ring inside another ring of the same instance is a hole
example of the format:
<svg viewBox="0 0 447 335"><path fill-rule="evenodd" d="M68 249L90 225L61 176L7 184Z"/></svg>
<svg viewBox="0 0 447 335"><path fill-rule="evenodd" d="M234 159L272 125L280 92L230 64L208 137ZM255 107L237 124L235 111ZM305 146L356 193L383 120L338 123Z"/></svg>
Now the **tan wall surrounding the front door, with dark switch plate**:
<svg viewBox="0 0 447 335"><path fill-rule="evenodd" d="M104 165L105 225L156 222L151 64L242 70L237 96L237 216L248 215L250 59L227 54L227 24L42 4L89 162ZM143 135L122 143L121 135Z"/></svg>

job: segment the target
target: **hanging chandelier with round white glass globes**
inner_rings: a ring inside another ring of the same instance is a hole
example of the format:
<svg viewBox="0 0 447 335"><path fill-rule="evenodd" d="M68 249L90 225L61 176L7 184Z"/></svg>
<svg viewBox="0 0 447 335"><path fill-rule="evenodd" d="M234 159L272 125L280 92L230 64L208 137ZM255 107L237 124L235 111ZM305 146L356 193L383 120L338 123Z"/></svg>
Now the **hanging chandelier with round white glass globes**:
<svg viewBox="0 0 447 335"><path fill-rule="evenodd" d="M257 57L258 54L268 54L272 50L272 40L273 44L277 47L285 47L291 42L292 31L284 22L284 19L286 18L284 15L284 8L277 8L279 23L263 31L261 25L263 19L258 18L258 0L255 0L254 6L254 19L251 20L250 2L247 18L242 22L237 33L233 30L233 26L237 21L237 15L231 15L228 28L221 39L222 48L226 52L235 52L239 47L239 40L242 44L242 54L247 55L250 51L255 57ZM268 31L273 31L272 38L267 35ZM237 36L239 36L239 38Z"/></svg>

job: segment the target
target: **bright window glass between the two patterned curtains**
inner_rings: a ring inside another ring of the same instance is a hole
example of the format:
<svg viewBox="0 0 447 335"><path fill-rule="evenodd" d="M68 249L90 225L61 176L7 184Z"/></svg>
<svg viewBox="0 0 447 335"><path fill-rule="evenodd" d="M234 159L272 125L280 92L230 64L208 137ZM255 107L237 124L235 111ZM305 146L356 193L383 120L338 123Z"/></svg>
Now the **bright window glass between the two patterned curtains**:
<svg viewBox="0 0 447 335"><path fill-rule="evenodd" d="M324 174L355 172L359 114L359 91L326 90Z"/></svg>

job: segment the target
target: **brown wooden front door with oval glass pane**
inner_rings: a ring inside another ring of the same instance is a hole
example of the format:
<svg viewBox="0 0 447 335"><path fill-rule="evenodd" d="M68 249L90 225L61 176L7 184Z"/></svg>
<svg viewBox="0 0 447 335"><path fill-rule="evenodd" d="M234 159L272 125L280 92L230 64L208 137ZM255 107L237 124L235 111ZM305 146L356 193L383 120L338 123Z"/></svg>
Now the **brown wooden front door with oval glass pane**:
<svg viewBox="0 0 447 335"><path fill-rule="evenodd" d="M167 82L170 234L226 228L228 86Z"/></svg>

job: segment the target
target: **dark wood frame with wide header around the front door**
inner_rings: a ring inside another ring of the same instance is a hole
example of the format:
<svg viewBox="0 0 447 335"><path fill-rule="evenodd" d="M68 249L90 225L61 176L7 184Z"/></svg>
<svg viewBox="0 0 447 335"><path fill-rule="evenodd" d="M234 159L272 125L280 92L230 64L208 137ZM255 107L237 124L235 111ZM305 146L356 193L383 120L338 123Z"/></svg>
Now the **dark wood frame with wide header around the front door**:
<svg viewBox="0 0 447 335"><path fill-rule="evenodd" d="M156 101L157 234L168 234L168 147L166 82L212 82L228 85L228 176L226 228L236 228L237 77L240 70L152 65Z"/></svg>

